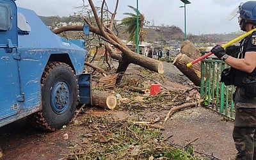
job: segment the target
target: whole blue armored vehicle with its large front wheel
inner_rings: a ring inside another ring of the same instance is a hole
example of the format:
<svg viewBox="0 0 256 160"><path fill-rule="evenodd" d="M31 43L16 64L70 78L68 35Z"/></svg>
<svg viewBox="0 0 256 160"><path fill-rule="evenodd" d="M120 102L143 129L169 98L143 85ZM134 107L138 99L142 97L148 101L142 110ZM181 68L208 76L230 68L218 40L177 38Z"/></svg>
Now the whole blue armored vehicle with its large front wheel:
<svg viewBox="0 0 256 160"><path fill-rule="evenodd" d="M0 0L0 127L24 117L50 131L68 124L78 102L90 104L86 55L32 10Z"/></svg>

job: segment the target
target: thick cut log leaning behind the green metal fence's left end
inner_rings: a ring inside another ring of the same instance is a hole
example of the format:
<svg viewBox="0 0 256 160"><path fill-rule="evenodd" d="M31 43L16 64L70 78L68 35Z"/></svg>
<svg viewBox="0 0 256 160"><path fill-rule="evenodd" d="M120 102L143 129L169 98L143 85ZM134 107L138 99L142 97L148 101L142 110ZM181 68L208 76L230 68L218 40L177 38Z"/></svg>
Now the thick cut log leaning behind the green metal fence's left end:
<svg viewBox="0 0 256 160"><path fill-rule="evenodd" d="M200 86L201 84L201 67L198 63L195 63L191 67L187 67L189 62L193 61L186 54L178 54L174 61L173 65L175 65L180 72L182 72L190 81L192 81L196 86Z"/></svg>

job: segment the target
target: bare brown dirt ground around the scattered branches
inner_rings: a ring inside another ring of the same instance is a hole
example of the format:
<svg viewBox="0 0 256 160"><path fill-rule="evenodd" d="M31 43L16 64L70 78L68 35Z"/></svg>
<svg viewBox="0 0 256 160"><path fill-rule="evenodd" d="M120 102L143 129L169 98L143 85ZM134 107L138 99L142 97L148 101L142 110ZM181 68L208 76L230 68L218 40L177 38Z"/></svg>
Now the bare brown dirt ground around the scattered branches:
<svg viewBox="0 0 256 160"><path fill-rule="evenodd" d="M131 65L127 72L134 72L136 67ZM172 63L164 62L164 76L168 81L161 82L169 88L186 90L191 83ZM109 115L118 120L128 116L136 116L139 120L147 121L159 117L158 125L167 143L184 146L193 143L196 152L212 155L212 159L230 159L236 154L232 140L233 122L209 108L197 107L184 109L174 113L163 124L169 109L161 104L163 109L145 109L137 115L130 111L116 108L113 111L90 107L86 108L88 115ZM77 121L83 116L77 116ZM0 146L3 150L2 159L65 159L72 148L81 143L81 134L86 132L86 139L91 140L91 128L88 125L70 124L55 132L42 132L29 124L26 119L13 122L0 128ZM68 134L68 140L63 140L63 134ZM92 140L93 143L93 140ZM90 148L88 148L90 149Z"/></svg>

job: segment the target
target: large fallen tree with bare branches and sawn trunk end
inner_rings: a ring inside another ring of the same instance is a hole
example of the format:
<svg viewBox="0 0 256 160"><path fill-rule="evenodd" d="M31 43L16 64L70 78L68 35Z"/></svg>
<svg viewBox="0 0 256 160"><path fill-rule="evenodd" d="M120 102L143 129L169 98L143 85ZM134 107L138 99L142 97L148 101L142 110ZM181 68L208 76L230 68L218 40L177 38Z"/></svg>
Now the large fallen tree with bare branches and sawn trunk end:
<svg viewBox="0 0 256 160"><path fill-rule="evenodd" d="M163 74L163 63L161 61L154 60L152 58L148 58L131 51L131 49L129 49L129 47L127 47L127 45L125 45L124 42L122 42L122 40L120 40L120 38L118 38L118 36L116 36L115 33L112 31L113 22L115 20L116 10L118 7L118 0L116 1L115 11L111 14L111 19L109 19L107 22L103 19L103 15L105 12L105 10L103 10L103 6L105 4L105 1L102 1L100 13L97 11L97 7L95 7L92 0L88 0L88 3L92 8L93 19L95 20L95 23L92 22L89 16L86 17L83 15L83 20L86 24L88 24L90 32L101 36L102 40L106 42L105 46L111 58L119 61L116 73L124 73L129 64L134 63L159 74ZM65 26L63 28L55 29L53 33L59 34L63 31L83 31L83 26ZM110 44L113 45L113 47L118 48L122 52L122 54L116 53ZM121 76L118 77L121 78Z"/></svg>

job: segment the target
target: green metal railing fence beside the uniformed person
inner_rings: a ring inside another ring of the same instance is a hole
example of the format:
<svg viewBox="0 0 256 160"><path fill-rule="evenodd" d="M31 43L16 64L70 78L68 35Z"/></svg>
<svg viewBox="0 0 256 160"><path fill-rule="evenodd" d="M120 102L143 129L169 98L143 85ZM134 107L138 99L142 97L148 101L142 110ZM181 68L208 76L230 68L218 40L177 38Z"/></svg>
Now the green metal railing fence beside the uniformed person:
<svg viewBox="0 0 256 160"><path fill-rule="evenodd" d="M201 61L200 96L204 97L204 105L218 113L234 119L234 102L232 93L234 86L220 83L221 71L228 65L221 60L205 59Z"/></svg>

